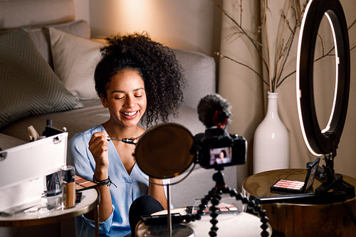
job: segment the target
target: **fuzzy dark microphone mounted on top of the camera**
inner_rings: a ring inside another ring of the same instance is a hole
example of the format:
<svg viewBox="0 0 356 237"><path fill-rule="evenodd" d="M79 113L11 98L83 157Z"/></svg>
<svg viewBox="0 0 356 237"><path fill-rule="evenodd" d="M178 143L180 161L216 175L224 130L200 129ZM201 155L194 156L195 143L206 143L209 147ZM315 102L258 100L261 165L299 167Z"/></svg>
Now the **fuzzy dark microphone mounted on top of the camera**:
<svg viewBox="0 0 356 237"><path fill-rule="evenodd" d="M230 124L231 105L219 94L206 95L198 104L199 120L205 127L224 128Z"/></svg>

